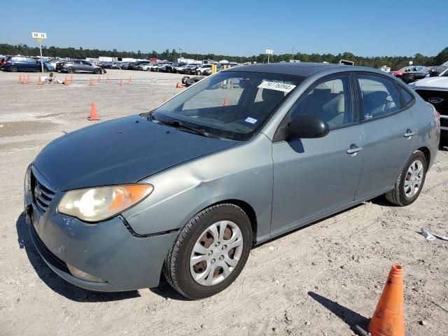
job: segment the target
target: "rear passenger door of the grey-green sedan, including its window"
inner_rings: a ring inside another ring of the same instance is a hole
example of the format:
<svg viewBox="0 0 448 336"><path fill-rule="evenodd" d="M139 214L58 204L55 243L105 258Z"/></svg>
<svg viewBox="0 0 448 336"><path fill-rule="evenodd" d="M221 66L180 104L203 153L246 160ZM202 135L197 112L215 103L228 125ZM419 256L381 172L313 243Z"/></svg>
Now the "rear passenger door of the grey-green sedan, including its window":
<svg viewBox="0 0 448 336"><path fill-rule="evenodd" d="M386 191L405 164L415 142L416 123L392 79L357 73L365 159L356 200Z"/></svg>

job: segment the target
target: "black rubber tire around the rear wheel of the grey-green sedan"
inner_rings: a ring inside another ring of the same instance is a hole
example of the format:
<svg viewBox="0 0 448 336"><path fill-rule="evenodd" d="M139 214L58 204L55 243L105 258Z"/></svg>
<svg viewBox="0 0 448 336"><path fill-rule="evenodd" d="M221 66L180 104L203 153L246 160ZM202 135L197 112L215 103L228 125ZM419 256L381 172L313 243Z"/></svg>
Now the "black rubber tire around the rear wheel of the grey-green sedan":
<svg viewBox="0 0 448 336"><path fill-rule="evenodd" d="M423 176L421 177L421 183L420 183L419 189L416 191L416 193L412 197L408 197L405 194L405 181L406 181L406 177L408 175L409 167L411 167L411 165L413 165L416 161L421 162L421 164L423 165L423 167L422 167ZM409 204L412 204L417 199L417 197L419 197L419 195L421 193L421 189L423 188L423 185L424 185L425 179L426 179L426 168L427 167L428 167L428 164L426 162L425 155L423 155L423 153L421 153L421 151L416 151L414 154L412 154L411 157L409 158L409 160L407 160L403 169L401 170L400 175L398 176L398 179L395 182L395 187L392 190L388 191L388 193L386 193L386 199L389 202L396 204L400 207L405 207Z"/></svg>

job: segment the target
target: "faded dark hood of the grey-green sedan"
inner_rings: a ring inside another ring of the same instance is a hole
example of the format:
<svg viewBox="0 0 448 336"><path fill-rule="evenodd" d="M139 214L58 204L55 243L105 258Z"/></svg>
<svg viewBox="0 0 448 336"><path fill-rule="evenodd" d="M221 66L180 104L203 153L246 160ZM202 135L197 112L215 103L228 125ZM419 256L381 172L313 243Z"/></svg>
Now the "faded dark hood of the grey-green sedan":
<svg viewBox="0 0 448 336"><path fill-rule="evenodd" d="M55 139L38 154L34 167L55 191L134 183L235 143L130 116Z"/></svg>

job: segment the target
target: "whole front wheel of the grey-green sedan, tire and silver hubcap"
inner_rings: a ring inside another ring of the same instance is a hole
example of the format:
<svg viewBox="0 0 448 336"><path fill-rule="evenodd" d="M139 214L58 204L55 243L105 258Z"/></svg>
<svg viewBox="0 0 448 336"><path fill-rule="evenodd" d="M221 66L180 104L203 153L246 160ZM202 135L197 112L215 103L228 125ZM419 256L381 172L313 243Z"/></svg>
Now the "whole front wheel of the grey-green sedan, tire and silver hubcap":
<svg viewBox="0 0 448 336"><path fill-rule="evenodd" d="M237 279L251 243L251 222L240 207L209 207L190 219L169 249L165 279L193 300L215 295Z"/></svg>

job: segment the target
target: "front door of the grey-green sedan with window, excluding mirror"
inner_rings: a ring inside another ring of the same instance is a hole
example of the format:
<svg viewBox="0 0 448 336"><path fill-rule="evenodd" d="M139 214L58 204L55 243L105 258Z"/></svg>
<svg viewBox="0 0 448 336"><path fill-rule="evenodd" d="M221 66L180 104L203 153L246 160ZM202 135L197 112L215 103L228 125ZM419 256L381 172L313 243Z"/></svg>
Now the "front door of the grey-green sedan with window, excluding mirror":
<svg viewBox="0 0 448 336"><path fill-rule="evenodd" d="M328 123L330 133L272 144L271 232L353 202L364 158L363 130L353 109L349 75L319 80L293 105L286 120L312 114Z"/></svg>

